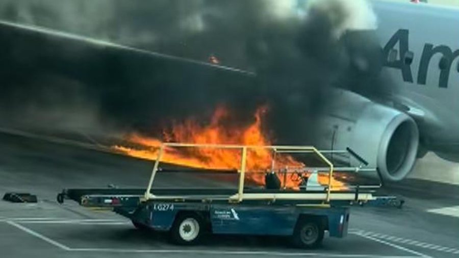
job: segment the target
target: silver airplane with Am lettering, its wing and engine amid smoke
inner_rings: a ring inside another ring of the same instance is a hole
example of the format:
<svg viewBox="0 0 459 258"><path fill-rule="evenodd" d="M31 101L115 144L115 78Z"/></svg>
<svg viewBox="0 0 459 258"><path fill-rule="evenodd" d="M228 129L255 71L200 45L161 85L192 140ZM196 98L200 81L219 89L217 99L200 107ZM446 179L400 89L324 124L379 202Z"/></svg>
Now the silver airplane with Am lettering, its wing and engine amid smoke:
<svg viewBox="0 0 459 258"><path fill-rule="evenodd" d="M373 31L380 47L379 72L389 76L385 87L390 93L375 97L359 89L331 91L333 101L317 122L321 135L315 145L350 147L391 182L405 178L427 151L459 162L459 9L408 0L370 3L377 17ZM258 76L221 60L191 60L6 20L0 21L0 49L5 87L36 80L44 72L65 74L81 84L111 85L90 87L86 93L104 96L100 109L117 110L120 123L131 119L128 108L141 113L160 103L163 115L176 112L177 89L190 96L185 106L204 112L203 101L217 104L225 92L250 91L246 85ZM199 84L183 87L196 80ZM152 81L158 86L151 87ZM210 90L212 99L200 95L216 81L219 90ZM129 87L133 84L141 95ZM143 114L137 119L160 117Z"/></svg>

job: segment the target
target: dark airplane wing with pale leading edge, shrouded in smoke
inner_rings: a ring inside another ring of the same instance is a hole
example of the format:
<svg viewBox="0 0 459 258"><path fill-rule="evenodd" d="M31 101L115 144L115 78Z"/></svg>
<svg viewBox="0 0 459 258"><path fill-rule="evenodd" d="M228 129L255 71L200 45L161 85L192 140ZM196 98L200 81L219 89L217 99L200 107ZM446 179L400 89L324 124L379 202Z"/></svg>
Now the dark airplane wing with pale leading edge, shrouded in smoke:
<svg viewBox="0 0 459 258"><path fill-rule="evenodd" d="M44 98L69 97L68 85L77 84L78 90L71 90L123 121L154 120L155 111L186 116L189 109L196 113L224 102L228 87L249 90L255 77L233 67L9 21L0 21L0 49L0 100L10 109L37 98L51 84L52 93Z"/></svg>

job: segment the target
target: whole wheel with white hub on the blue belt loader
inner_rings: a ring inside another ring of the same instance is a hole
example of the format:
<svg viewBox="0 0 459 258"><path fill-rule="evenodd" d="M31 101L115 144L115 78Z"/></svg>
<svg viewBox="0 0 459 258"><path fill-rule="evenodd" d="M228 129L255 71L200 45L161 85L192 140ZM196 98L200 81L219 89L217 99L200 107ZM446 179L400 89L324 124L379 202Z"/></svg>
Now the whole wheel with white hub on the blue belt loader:
<svg viewBox="0 0 459 258"><path fill-rule="evenodd" d="M202 219L193 213L177 217L170 229L172 240L181 245L196 244L203 231Z"/></svg>

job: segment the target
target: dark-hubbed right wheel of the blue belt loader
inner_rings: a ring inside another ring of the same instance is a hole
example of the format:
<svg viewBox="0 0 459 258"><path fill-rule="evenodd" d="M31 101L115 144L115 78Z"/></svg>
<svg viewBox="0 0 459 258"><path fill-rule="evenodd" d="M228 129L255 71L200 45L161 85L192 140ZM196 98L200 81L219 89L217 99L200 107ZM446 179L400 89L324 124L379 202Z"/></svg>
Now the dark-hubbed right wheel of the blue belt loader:
<svg viewBox="0 0 459 258"><path fill-rule="evenodd" d="M300 248L315 248L322 243L323 234L320 221L300 219L293 233L293 243Z"/></svg>

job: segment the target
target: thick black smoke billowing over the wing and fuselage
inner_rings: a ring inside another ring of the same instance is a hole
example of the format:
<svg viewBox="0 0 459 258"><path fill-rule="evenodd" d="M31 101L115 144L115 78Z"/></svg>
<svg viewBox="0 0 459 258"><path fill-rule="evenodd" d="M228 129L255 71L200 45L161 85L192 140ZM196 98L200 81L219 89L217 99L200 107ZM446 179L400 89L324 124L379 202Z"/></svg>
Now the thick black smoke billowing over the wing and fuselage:
<svg viewBox="0 0 459 258"><path fill-rule="evenodd" d="M327 98L331 88L385 94L374 32L336 35L348 15L340 1L330 0L337 3L332 18L323 9L301 18L289 7L295 1L279 2L4 0L3 20L202 62L215 56L256 76L2 27L1 118L155 134L171 120L194 116L206 123L219 105L246 123L268 104L268 128L287 143L311 140L304 132L333 101ZM305 4L295 5L307 12Z"/></svg>

